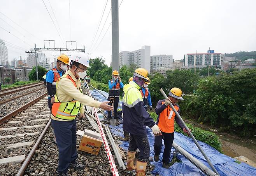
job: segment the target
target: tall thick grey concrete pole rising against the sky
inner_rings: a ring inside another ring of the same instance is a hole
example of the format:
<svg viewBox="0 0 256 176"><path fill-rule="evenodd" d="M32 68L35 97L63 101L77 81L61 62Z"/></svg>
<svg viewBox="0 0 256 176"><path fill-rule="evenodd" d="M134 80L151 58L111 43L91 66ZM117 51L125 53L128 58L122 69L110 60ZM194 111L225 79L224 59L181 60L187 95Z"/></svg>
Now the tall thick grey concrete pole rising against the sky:
<svg viewBox="0 0 256 176"><path fill-rule="evenodd" d="M112 71L119 72L118 0L111 0L112 12Z"/></svg>

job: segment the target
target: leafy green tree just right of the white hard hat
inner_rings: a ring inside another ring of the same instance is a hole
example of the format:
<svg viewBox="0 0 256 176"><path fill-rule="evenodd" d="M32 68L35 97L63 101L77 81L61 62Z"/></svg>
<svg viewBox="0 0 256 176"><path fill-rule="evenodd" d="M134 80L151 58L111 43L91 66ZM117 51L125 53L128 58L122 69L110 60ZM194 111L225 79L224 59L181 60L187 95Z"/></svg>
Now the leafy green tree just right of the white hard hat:
<svg viewBox="0 0 256 176"><path fill-rule="evenodd" d="M107 68L107 65L105 64L105 59L102 59L102 57L96 57L95 59L90 59L90 67L88 68L88 71L90 73L90 77L93 78L94 74L98 70L103 70Z"/></svg>

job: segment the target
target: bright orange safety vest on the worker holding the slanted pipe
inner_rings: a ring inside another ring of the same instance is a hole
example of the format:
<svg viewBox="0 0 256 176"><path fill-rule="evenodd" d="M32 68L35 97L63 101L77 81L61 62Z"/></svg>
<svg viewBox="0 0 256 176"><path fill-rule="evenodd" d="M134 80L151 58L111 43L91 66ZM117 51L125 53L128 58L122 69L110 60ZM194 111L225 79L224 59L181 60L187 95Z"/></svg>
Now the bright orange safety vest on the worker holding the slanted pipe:
<svg viewBox="0 0 256 176"><path fill-rule="evenodd" d="M165 102L162 102L162 105L164 103ZM174 105L174 108L177 111L179 110L179 107L177 105ZM167 106L167 108L165 108L160 113L158 127L160 128L161 131L163 131L165 133L173 133L174 132L174 117L175 117L175 115L176 115L175 112L172 110L172 107L170 107L169 105Z"/></svg>

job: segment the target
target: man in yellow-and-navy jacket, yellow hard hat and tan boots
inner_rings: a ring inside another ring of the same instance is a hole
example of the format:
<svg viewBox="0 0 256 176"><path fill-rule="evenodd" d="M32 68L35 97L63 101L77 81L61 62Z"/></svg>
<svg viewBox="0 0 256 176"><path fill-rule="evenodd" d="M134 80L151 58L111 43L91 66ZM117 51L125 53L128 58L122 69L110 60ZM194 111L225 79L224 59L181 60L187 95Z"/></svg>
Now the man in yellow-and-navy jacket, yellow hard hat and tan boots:
<svg viewBox="0 0 256 176"><path fill-rule="evenodd" d="M161 131L149 116L144 108L141 93L139 89L147 80L148 71L144 68L138 68L133 72L133 80L123 88L123 131L130 133L130 142L128 147L127 166L128 171L136 169L139 176L145 176L147 161L149 159L149 141L147 139L146 126L152 129L155 136L161 135ZM136 150L140 153L137 156L137 166L134 166Z"/></svg>

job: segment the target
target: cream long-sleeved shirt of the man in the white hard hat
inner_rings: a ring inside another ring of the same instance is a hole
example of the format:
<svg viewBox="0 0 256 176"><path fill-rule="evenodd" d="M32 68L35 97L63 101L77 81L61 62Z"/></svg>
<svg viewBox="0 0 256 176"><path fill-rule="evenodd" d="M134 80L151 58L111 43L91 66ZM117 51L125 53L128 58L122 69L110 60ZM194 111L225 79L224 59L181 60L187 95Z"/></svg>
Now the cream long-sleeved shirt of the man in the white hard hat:
<svg viewBox="0 0 256 176"><path fill-rule="evenodd" d="M101 102L94 100L94 98L89 97L88 95L82 94L78 89L81 86L81 80L75 78L74 74L69 70L67 72L71 76L71 78L75 81L77 87L74 86L72 81L67 78L62 78L57 83L57 91L56 95L60 102L69 102L73 99L79 101L82 104L80 109L80 113L84 113L84 105L92 106L92 107L100 107ZM56 97L55 97L56 98ZM51 115L51 118L57 121L65 121L62 119L58 119Z"/></svg>

